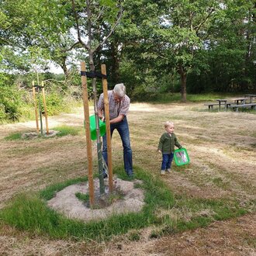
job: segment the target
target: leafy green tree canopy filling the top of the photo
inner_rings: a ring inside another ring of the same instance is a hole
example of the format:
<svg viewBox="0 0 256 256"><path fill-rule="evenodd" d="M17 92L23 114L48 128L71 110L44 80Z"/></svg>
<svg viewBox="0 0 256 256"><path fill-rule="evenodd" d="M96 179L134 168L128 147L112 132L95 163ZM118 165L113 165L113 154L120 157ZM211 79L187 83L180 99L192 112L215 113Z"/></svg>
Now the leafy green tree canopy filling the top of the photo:
<svg viewBox="0 0 256 256"><path fill-rule="evenodd" d="M2 73L106 64L141 93L254 91L254 0L2 0ZM133 95L132 95L133 93Z"/></svg>

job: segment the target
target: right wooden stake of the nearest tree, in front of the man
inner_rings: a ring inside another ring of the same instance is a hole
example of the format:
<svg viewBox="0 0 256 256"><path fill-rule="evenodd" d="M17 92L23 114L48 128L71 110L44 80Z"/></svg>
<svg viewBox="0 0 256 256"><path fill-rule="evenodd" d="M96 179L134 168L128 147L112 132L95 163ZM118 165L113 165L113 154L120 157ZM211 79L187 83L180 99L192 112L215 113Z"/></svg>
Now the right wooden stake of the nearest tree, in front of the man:
<svg viewBox="0 0 256 256"><path fill-rule="evenodd" d="M105 64L102 64L102 74L106 74ZM113 190L112 145L111 145L110 119L109 119L108 81L106 80L106 78L102 78L102 85L103 85L104 109L105 109L105 117L106 117L106 139L107 139L108 168L109 168L109 192L112 192Z"/></svg>

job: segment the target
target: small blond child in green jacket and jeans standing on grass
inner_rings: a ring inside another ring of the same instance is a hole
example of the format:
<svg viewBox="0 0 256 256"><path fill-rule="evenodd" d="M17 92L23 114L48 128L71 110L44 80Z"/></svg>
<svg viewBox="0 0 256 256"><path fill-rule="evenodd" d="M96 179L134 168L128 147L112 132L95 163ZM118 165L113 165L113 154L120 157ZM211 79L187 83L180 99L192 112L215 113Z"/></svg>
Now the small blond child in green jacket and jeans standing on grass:
<svg viewBox="0 0 256 256"><path fill-rule="evenodd" d="M182 145L178 143L175 135L175 125L172 122L167 121L164 123L165 133L161 136L158 144L158 152L162 153L163 160L161 164L161 175L165 174L165 170L171 172L171 161L174 157L175 146L182 148Z"/></svg>

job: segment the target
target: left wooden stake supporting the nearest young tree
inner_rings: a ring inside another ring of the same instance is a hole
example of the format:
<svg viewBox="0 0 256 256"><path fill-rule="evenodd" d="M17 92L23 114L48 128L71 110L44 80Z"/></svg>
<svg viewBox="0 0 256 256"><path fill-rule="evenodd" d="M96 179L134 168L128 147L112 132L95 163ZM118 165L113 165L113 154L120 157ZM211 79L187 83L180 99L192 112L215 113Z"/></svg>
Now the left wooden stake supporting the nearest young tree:
<svg viewBox="0 0 256 256"><path fill-rule="evenodd" d="M86 71L85 62L81 61L81 71ZM89 115L89 102L88 102L88 89L87 78L85 75L81 75L81 86L83 90L83 102L84 102L84 116L85 116L85 135L86 135L86 148L87 148L87 161L88 161L88 185L89 185L89 199L90 206L92 207L95 202L94 198L94 186L93 186L93 174L92 174L92 140L90 133L90 115Z"/></svg>

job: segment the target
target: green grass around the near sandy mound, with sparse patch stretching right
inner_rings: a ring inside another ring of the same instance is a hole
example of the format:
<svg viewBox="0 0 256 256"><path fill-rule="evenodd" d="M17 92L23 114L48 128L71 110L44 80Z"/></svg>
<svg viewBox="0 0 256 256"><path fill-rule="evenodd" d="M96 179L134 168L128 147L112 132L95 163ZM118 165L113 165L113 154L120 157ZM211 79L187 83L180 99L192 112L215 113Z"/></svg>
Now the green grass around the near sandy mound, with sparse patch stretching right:
<svg viewBox="0 0 256 256"><path fill-rule="evenodd" d="M126 234L129 230L140 230L150 225L161 227L153 231L151 237L181 232L197 227L206 227L213 220L226 220L247 213L234 200L188 199L185 196L175 197L160 178L153 177L147 171L134 168L135 178L142 181L137 185L144 189L145 205L140 213L126 213L110 216L106 220L84 223L71 220L56 213L47 206L47 200L67 185L85 182L86 178L77 178L64 183L54 184L34 195L16 196L9 206L0 212L0 220L21 230L30 230L33 234L47 234L50 237L73 237L76 239L109 240L112 236ZM126 177L122 168L116 168L119 178ZM190 220L183 217L174 218L171 211L182 212L186 209L192 214ZM207 209L211 214L200 214ZM159 211L164 210L164 215Z"/></svg>

